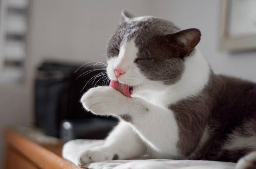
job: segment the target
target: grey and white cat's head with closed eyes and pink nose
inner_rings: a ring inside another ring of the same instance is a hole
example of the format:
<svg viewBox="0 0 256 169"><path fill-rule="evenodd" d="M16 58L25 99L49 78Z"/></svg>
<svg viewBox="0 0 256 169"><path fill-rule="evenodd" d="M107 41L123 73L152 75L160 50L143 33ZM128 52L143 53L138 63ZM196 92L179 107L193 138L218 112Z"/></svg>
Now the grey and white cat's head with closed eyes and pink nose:
<svg viewBox="0 0 256 169"><path fill-rule="evenodd" d="M174 85L200 36L195 28L180 30L168 20L123 11L107 46L108 77L129 86Z"/></svg>

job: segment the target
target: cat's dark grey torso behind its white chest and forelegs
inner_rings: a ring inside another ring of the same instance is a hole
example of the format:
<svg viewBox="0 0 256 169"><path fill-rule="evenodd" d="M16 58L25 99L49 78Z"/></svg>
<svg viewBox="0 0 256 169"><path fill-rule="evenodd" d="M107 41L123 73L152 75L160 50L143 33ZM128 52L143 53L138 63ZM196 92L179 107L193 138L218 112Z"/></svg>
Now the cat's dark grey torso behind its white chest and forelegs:
<svg viewBox="0 0 256 169"><path fill-rule="evenodd" d="M237 162L256 150L255 103L255 83L211 72L197 96L169 107L178 121L177 146L184 158Z"/></svg>

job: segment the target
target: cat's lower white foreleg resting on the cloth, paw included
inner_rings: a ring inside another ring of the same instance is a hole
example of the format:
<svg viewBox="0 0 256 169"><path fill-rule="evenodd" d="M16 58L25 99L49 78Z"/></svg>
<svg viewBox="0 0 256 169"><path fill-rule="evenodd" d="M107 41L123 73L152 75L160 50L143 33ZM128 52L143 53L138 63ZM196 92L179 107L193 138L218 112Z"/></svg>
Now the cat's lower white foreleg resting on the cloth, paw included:
<svg viewBox="0 0 256 169"><path fill-rule="evenodd" d="M79 152L75 164L84 166L91 162L130 159L146 154L146 145L131 128L131 124L121 121L107 137L105 144Z"/></svg>

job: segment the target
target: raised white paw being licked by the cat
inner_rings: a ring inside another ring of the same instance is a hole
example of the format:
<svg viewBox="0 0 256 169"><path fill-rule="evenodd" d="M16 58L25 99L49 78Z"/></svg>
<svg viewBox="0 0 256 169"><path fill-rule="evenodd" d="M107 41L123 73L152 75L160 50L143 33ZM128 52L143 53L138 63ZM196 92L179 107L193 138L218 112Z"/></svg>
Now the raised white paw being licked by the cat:
<svg viewBox="0 0 256 169"><path fill-rule="evenodd" d="M117 114L122 111L129 98L112 87L89 89L81 98L85 109L95 114Z"/></svg>

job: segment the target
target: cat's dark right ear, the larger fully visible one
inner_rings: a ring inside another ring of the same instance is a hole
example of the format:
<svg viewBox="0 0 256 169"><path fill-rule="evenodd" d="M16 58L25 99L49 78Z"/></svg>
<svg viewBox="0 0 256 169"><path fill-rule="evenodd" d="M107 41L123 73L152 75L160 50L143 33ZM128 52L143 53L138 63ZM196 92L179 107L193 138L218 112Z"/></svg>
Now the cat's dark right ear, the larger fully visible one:
<svg viewBox="0 0 256 169"><path fill-rule="evenodd" d="M172 39L182 47L182 57L188 56L199 43L201 32L196 28L182 30L172 34Z"/></svg>

